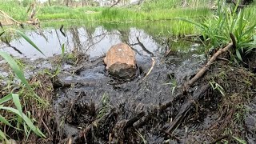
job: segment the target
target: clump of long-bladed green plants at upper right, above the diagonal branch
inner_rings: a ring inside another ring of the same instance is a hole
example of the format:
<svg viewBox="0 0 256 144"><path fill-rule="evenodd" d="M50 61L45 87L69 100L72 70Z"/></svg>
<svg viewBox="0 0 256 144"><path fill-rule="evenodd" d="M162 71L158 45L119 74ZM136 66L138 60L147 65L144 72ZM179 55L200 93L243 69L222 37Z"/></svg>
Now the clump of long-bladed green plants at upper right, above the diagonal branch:
<svg viewBox="0 0 256 144"><path fill-rule="evenodd" d="M244 13L238 5L231 7L218 0L218 10L205 22L199 23L185 18L178 18L193 23L200 29L203 40L209 47L221 48L230 42L230 34L234 36L235 49L231 51L231 60L242 62L243 57L256 47L255 21L250 21L251 13ZM238 2L239 3L239 2ZM246 19L247 18L247 19Z"/></svg>

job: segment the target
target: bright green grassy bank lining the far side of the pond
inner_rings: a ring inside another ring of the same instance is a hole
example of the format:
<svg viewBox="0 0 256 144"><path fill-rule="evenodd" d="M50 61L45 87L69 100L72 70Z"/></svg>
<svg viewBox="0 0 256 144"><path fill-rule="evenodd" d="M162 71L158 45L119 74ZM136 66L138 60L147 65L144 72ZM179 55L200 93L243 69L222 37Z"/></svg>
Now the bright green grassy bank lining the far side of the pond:
<svg viewBox="0 0 256 144"><path fill-rule="evenodd" d="M160 2L160 1L159 1ZM59 20L76 20L79 22L98 23L135 23L135 22L151 22L154 25L156 21L169 21L174 18L192 18L202 20L202 18L210 17L211 10L200 5L183 7L178 1L169 2L145 2L141 6L130 7L68 7L68 6L37 6L38 12L36 18L42 22L42 26L46 26L51 21ZM190 2L190 1L189 1ZM192 1L191 1L192 2ZM197 1L199 2L199 1ZM155 6L153 4L155 4ZM164 4L166 3L166 4ZM11 17L18 21L26 21L29 13L26 13L28 6L14 1L2 0L0 10L5 11ZM46 22L48 24L44 25ZM55 22L52 22L55 23ZM174 35L194 33L194 26L186 22L173 21L168 32Z"/></svg>

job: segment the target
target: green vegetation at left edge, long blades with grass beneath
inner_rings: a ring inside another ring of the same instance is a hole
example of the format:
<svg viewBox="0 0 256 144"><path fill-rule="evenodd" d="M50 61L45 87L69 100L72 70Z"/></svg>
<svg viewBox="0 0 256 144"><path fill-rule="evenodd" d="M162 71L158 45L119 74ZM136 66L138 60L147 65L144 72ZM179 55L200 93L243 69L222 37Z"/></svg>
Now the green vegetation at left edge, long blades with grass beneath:
<svg viewBox="0 0 256 144"><path fill-rule="evenodd" d="M32 42L30 38L26 37L26 35L19 30L7 29L3 30L2 34L10 32L15 32L16 34L19 34L22 38L25 38L27 42L34 46L35 49L41 52L41 50L39 50L38 47L34 45L34 42ZM19 80L22 82L22 84L26 86L26 93L30 94L30 97L35 99L38 103L46 104L47 102L44 102L42 98L39 98L38 95L34 93L29 82L26 81L22 69L20 68L20 66L18 66L17 62L15 62L14 58L12 58L10 54L7 54L3 51L0 51L0 56L4 58L6 62L9 63L10 68L14 71L14 74L16 74ZM8 86L6 88L8 88ZM22 92L22 90L20 92ZM31 116L30 111L25 110L25 114L23 113L22 107L25 107L26 104L24 105L21 102L25 100L25 97L22 97L21 100L21 97L19 96L20 94L18 93L14 94L14 91L11 90L10 94L7 94L6 96L3 96L0 99L0 122L2 122L0 130L0 139L3 142L8 142L9 136L6 135L6 126L9 126L9 128L13 128L15 131L22 131L23 133L26 134L26 137L29 137L30 132L32 130L39 137L46 138L46 136L42 134L42 131L39 130L37 126L34 126L35 120ZM10 101L12 101L14 105L11 104ZM16 126L14 126L13 124L15 124Z"/></svg>

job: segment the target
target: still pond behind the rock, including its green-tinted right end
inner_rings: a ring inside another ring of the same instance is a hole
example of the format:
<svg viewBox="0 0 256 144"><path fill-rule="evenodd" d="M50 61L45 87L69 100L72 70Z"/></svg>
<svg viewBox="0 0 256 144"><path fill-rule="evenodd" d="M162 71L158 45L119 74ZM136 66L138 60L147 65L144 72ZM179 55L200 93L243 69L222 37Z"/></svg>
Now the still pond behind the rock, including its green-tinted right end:
<svg viewBox="0 0 256 144"><path fill-rule="evenodd" d="M197 44L172 37L166 23L162 23L165 25L152 23L152 25L147 24L146 26L138 25L139 28L123 24L120 24L121 27L117 24L93 27L71 26L65 27L63 33L58 28L50 27L45 27L42 30L27 30L26 35L42 50L45 56L22 38L13 39L10 42L10 45L16 47L22 54L8 46L4 46L3 50L19 58L36 59L61 54L62 45L64 45L66 53L76 50L94 58L106 54L111 46L125 42L134 48L137 56L161 55L166 53L170 46L174 51L201 53L200 49L195 49ZM55 27L60 27L60 25ZM166 31L163 31L165 29ZM139 46L138 41L146 49Z"/></svg>

